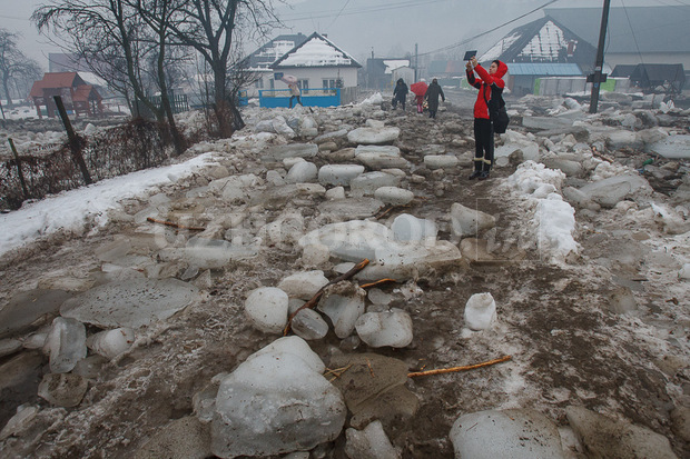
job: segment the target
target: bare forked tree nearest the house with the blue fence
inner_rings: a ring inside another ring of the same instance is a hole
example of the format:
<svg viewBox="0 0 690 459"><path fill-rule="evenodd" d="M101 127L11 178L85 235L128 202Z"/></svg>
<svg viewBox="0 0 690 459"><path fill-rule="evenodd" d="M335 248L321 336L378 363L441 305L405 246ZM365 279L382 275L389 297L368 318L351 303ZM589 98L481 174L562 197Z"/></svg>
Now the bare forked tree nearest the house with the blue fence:
<svg viewBox="0 0 690 459"><path fill-rule="evenodd" d="M278 0L279 1L279 0ZM272 0L187 0L170 24L177 44L197 50L214 76L214 109L219 133L230 136L244 127L229 79L235 33L265 36L279 20Z"/></svg>

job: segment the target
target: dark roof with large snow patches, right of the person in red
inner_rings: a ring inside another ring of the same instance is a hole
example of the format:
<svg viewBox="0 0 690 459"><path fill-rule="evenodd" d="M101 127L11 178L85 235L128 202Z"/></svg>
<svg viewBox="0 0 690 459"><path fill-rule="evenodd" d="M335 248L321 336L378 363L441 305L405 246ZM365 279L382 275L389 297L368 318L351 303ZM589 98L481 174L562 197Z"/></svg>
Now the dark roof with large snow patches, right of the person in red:
<svg viewBox="0 0 690 459"><path fill-rule="evenodd" d="M592 44L545 17L510 31L480 61L578 63L589 69L595 57L597 49Z"/></svg>

